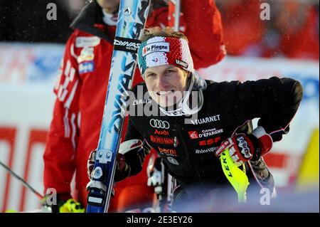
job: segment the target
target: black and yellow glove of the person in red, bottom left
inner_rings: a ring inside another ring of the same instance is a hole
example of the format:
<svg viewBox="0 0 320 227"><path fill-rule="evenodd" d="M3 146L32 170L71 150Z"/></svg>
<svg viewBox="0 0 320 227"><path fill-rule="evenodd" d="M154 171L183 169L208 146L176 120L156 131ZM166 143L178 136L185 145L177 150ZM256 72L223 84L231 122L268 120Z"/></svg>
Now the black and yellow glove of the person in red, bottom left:
<svg viewBox="0 0 320 227"><path fill-rule="evenodd" d="M41 200L43 210L50 213L85 213L85 208L71 198L70 194L57 194L56 204L48 204L48 197L52 194L46 194Z"/></svg>

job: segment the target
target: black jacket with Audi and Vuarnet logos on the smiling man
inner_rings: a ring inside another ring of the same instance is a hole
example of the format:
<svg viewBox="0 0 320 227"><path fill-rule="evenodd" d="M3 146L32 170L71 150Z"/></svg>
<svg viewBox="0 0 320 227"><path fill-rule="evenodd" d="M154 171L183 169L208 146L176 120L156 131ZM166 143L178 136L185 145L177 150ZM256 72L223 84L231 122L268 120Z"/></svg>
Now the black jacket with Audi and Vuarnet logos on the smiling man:
<svg viewBox="0 0 320 227"><path fill-rule="evenodd" d="M185 120L190 118L187 116L136 114L129 117L126 140L142 139L156 149L169 174L181 186L226 183L219 159L214 155L218 145L240 128L248 132L244 126L257 117L260 118L258 125L271 134L274 142L279 141L282 134L289 131L289 122L302 100L302 85L289 78L273 77L245 83L206 80L206 83L203 107L198 119L189 121L190 124L186 124ZM142 85L146 92L146 85ZM133 89L136 97L137 90L136 86ZM153 104L153 100L145 97L131 102L130 108L138 113L139 108L146 110ZM141 171L144 159L141 151L129 152L125 158L129 166L127 174Z"/></svg>

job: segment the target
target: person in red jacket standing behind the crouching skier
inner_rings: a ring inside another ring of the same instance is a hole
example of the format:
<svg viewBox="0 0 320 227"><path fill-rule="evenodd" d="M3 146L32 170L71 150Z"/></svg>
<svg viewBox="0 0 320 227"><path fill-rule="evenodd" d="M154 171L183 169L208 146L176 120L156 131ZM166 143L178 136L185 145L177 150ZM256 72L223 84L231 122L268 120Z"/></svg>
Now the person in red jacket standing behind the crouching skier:
<svg viewBox="0 0 320 227"><path fill-rule="evenodd" d="M154 3L146 26L167 26L167 7L162 1ZM193 43L195 68L218 63L225 52L215 2L183 0L181 4L181 29ZM118 7L119 0L91 1L71 24L75 31L65 46L55 84L57 99L43 154L45 193L53 188L58 195L58 206L51 207L53 211L59 211L60 204L71 198L73 174L75 199L83 206L87 204L87 158L97 147L100 135ZM136 73L133 85L139 82L142 77ZM125 211L150 201L154 189L146 181L144 167L142 173L117 184L109 211Z"/></svg>

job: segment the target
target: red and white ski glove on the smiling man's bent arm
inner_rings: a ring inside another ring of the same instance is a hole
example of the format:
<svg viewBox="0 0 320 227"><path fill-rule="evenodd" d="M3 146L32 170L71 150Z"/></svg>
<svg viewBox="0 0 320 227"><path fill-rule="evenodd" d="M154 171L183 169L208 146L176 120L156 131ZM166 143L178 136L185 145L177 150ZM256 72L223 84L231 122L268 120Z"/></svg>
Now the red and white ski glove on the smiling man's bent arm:
<svg viewBox="0 0 320 227"><path fill-rule="evenodd" d="M229 149L231 159L237 167L240 167L249 160L257 161L270 152L271 148L272 137L263 127L257 127L251 134L240 133L225 139L215 152L215 156L219 157L225 149Z"/></svg>

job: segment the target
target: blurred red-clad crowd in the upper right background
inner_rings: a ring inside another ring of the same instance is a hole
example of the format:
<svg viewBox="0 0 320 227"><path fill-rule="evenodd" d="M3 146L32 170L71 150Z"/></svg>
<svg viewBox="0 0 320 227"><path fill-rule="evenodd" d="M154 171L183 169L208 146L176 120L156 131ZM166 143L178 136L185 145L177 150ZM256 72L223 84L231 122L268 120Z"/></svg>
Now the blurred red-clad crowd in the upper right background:
<svg viewBox="0 0 320 227"><path fill-rule="evenodd" d="M319 59L319 0L216 0L229 55ZM270 6L270 19L262 20Z"/></svg>

